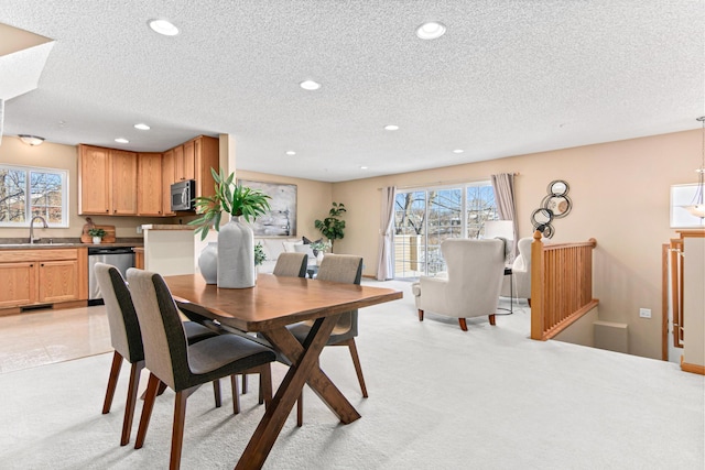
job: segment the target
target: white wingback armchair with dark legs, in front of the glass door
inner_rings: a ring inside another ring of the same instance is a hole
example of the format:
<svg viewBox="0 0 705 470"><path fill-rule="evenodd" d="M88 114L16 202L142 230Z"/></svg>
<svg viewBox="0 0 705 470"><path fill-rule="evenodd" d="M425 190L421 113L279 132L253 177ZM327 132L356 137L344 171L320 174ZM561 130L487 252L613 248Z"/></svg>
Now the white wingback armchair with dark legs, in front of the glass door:
<svg viewBox="0 0 705 470"><path fill-rule="evenodd" d="M422 276L412 285L419 309L457 317L460 329L467 331L466 318L489 316L495 325L495 313L505 275L505 243L502 240L447 239L441 252L448 267L444 277Z"/></svg>

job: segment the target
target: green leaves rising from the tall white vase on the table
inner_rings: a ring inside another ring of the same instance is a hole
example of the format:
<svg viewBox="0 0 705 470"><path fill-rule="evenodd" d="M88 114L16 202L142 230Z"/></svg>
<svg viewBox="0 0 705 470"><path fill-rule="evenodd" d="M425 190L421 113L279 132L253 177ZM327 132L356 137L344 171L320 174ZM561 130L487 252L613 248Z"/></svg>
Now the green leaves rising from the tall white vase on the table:
<svg viewBox="0 0 705 470"><path fill-rule="evenodd" d="M235 173L226 176L223 168L219 173L210 168L210 173L215 181L215 194L195 199L196 212L200 214L200 217L188 222L189 226L197 226L195 232L200 233L202 240L208 236L210 227L216 231L220 230L220 217L224 211L234 217L243 217L250 222L270 210L271 197L259 189L236 184Z"/></svg>

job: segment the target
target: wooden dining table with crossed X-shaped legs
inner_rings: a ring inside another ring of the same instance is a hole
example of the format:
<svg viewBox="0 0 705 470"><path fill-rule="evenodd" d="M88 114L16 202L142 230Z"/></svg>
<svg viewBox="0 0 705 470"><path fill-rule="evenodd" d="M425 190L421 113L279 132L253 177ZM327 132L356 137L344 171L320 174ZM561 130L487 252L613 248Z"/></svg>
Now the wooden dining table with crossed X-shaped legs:
<svg viewBox="0 0 705 470"><path fill-rule="evenodd" d="M236 469L259 469L267 460L304 384L343 424L360 417L318 365L318 357L340 314L402 298L391 288L259 274L251 288L218 288L198 274L165 276L178 306L241 331L261 334L291 367L267 407ZM288 325L314 320L300 343Z"/></svg>

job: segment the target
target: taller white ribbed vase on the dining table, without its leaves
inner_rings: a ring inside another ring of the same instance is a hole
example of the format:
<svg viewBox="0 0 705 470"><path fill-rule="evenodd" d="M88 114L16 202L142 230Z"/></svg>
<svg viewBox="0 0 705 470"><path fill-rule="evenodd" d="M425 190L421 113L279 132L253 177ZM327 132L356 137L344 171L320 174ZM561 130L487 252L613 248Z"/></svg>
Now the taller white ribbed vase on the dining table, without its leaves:
<svg viewBox="0 0 705 470"><path fill-rule="evenodd" d="M218 287L254 287L256 280L252 229L232 217L218 232Z"/></svg>

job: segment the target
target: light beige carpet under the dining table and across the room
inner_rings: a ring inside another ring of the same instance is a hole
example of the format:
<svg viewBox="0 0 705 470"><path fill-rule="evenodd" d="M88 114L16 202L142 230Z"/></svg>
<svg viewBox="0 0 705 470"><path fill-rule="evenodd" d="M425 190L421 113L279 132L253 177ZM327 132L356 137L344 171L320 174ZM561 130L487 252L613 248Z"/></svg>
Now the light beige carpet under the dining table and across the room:
<svg viewBox="0 0 705 470"><path fill-rule="evenodd" d="M267 469L703 469L705 378L529 340L528 310L467 332L432 315L419 323L409 284L397 285L404 300L361 310L369 398L345 348L322 358L362 418L341 426L306 393L304 426L290 417ZM101 415L109 364L101 354L0 375L0 468L166 468L173 394L158 400L144 448L120 447L127 369ZM182 468L235 466L263 412L253 389L238 416L227 387L219 409L208 386L189 398Z"/></svg>

